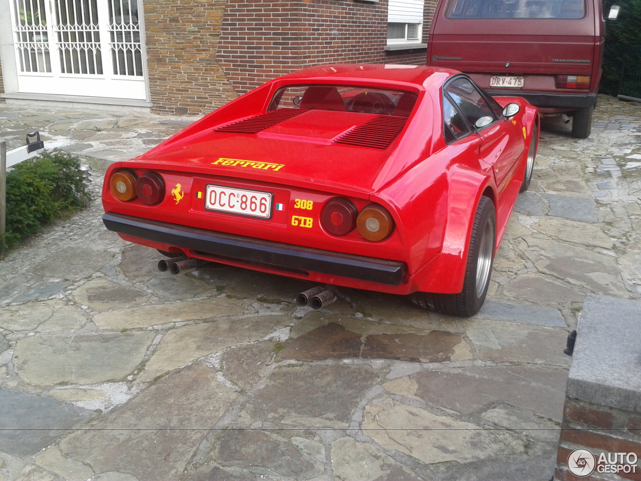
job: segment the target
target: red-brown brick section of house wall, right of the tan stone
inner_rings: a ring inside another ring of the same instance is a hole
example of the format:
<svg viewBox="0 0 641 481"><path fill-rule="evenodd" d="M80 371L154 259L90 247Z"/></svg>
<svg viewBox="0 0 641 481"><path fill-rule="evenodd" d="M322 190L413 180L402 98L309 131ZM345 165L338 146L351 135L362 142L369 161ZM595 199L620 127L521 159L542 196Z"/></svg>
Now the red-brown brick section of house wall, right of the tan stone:
<svg viewBox="0 0 641 481"><path fill-rule="evenodd" d="M423 41L436 2L426 1ZM385 51L387 0L228 0L217 58L240 94L320 63L425 65L426 50Z"/></svg>

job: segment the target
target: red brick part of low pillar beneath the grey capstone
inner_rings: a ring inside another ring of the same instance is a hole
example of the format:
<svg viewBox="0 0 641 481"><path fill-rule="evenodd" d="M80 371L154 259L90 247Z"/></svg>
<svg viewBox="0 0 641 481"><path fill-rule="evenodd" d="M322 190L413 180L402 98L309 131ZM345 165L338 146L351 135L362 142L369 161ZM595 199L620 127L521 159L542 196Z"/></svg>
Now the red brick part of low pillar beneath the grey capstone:
<svg viewBox="0 0 641 481"><path fill-rule="evenodd" d="M607 456L608 453L631 452L641 457L641 413L566 398L554 473L557 481L641 480L641 466L637 466L637 473L605 474L595 470L587 478L572 475L567 460L578 448L586 448L597 459L601 453Z"/></svg>

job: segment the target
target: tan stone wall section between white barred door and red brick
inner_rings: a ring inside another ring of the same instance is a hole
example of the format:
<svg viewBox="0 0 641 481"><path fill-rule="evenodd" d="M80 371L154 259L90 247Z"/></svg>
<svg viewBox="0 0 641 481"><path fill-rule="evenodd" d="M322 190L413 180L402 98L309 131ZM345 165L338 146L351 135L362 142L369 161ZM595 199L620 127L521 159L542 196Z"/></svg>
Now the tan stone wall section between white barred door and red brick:
<svg viewBox="0 0 641 481"><path fill-rule="evenodd" d="M237 96L216 60L225 0L145 0L155 112L201 114Z"/></svg>

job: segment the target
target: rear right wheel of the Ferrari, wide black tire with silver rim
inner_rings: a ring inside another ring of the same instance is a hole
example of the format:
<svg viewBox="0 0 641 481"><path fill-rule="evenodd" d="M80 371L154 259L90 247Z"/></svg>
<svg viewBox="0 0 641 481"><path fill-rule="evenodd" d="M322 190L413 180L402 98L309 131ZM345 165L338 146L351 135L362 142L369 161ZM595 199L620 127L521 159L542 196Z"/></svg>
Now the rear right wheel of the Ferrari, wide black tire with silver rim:
<svg viewBox="0 0 641 481"><path fill-rule="evenodd" d="M490 286L496 244L496 212L492 199L481 197L467 254L463 290L457 294L414 292L410 300L422 308L450 316L474 316L485 302Z"/></svg>

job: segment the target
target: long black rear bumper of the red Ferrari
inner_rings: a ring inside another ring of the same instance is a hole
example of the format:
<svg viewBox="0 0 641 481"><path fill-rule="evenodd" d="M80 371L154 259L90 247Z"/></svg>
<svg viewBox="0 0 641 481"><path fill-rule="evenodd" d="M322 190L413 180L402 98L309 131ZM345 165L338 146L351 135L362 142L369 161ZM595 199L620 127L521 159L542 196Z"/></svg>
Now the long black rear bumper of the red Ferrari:
<svg viewBox="0 0 641 481"><path fill-rule="evenodd" d="M312 271L388 285L400 285L407 273L404 262L263 241L113 212L104 214L103 222L113 232L277 270Z"/></svg>

